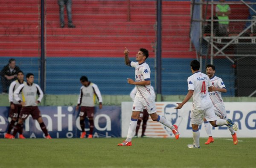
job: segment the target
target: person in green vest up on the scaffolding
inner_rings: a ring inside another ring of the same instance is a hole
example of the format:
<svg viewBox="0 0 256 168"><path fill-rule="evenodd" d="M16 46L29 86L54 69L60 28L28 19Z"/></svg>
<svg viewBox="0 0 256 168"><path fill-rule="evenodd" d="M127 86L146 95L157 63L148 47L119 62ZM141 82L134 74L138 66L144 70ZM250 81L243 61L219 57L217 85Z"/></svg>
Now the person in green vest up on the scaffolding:
<svg viewBox="0 0 256 168"><path fill-rule="evenodd" d="M218 31L220 36L228 35L228 24L229 24L229 15L231 14L231 9L228 4L225 4L225 0L219 0L220 4L216 5L215 11L216 16L218 17Z"/></svg>

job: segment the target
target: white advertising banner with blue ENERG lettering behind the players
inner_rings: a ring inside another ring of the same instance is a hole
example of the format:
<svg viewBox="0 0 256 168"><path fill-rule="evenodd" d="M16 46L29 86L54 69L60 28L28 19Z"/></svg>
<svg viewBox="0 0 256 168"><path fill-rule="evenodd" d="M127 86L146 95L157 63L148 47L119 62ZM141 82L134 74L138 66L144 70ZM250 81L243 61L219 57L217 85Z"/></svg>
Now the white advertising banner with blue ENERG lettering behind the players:
<svg viewBox="0 0 256 168"><path fill-rule="evenodd" d="M192 102L186 103L182 109L175 109L177 102L156 102L157 114L164 116L172 125L178 125L180 137L192 137L190 111ZM127 136L131 121L132 102L122 102L122 137ZM227 102L224 103L227 117L238 125L238 137L256 137L256 103L253 102ZM218 118L218 117L217 117ZM141 124L142 125L142 124ZM204 123L200 125L200 137L208 137L204 130ZM227 126L212 127L213 137L231 137ZM134 133L135 134L135 133ZM138 136L141 134L141 126ZM172 131L160 122L155 122L149 117L145 135L148 137L174 137Z"/></svg>

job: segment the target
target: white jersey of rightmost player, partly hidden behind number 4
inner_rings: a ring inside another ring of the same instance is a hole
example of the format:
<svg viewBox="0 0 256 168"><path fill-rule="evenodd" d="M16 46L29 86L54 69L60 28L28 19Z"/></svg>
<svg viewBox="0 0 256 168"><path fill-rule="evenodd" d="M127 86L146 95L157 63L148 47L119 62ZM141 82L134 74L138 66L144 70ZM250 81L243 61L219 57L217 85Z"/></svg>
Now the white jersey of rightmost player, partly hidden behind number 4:
<svg viewBox="0 0 256 168"><path fill-rule="evenodd" d="M210 82L216 88L226 88L224 82L222 81L222 79L220 77L213 76L212 78L210 78ZM220 91L211 91L211 92L209 92L209 94L210 94L210 98L212 100L212 104L215 107L224 106Z"/></svg>

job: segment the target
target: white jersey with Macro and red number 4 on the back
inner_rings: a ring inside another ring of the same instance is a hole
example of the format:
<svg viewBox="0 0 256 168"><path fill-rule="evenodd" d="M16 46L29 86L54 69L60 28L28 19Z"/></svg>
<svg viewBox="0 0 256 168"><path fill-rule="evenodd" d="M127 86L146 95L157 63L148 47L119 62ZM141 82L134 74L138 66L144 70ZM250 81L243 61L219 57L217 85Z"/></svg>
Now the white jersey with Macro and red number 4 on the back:
<svg viewBox="0 0 256 168"><path fill-rule="evenodd" d="M193 90L193 109L204 110L212 106L208 87L211 86L209 77L200 71L188 77L189 90Z"/></svg>

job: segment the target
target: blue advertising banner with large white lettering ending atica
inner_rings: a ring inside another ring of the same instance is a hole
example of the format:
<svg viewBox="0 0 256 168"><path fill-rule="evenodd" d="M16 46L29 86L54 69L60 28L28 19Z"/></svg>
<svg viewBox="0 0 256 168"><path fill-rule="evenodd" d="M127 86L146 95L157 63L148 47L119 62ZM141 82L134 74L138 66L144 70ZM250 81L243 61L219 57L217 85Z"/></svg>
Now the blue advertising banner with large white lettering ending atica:
<svg viewBox="0 0 256 168"><path fill-rule="evenodd" d="M80 137L79 112L73 106L39 107L44 123L52 138ZM0 138L4 137L9 125L9 107L0 107ZM10 120L10 119L9 119ZM85 131L89 134L89 122L85 119ZM31 116L24 122L26 138L43 138L44 133ZM93 137L121 137L121 108L103 106L95 108Z"/></svg>

